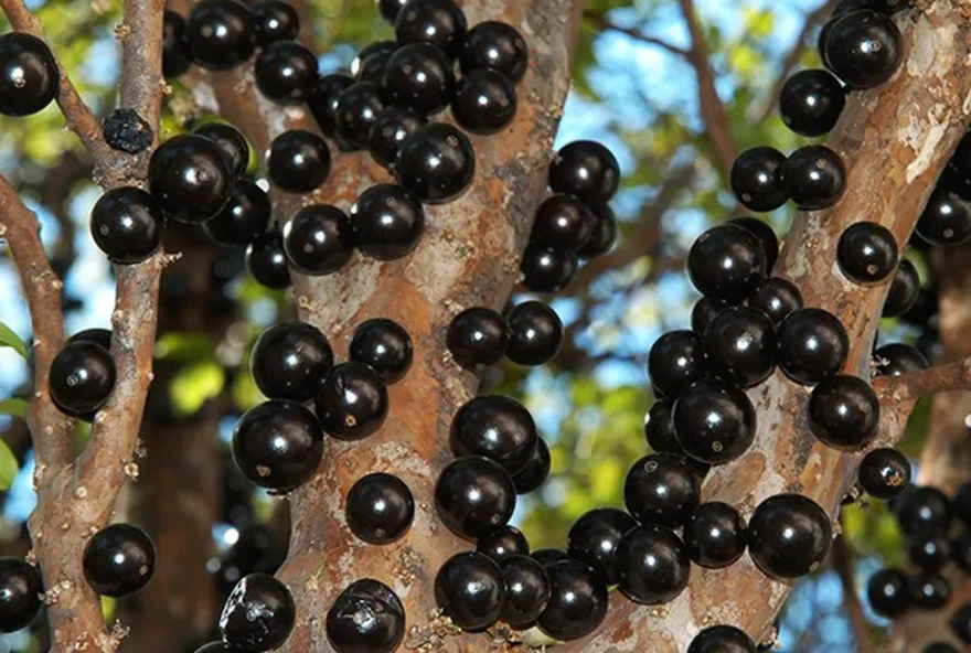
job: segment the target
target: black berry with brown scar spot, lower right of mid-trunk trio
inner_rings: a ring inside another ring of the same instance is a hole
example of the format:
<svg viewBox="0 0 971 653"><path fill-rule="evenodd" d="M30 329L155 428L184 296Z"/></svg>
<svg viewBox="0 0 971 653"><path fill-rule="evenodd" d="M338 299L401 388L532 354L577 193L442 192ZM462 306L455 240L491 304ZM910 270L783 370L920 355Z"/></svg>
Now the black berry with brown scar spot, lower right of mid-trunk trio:
<svg viewBox="0 0 971 653"><path fill-rule="evenodd" d="M339 440L372 435L387 417L387 386L372 367L349 362L323 377L314 397L320 426Z"/></svg>

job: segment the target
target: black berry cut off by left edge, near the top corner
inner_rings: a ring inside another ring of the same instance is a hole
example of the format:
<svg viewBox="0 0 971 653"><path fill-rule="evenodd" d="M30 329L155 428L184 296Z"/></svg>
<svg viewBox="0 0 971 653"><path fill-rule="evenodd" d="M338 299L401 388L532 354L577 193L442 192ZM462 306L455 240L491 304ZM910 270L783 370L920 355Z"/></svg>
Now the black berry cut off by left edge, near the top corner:
<svg viewBox="0 0 971 653"><path fill-rule="evenodd" d="M0 114L36 114L60 87L61 73L46 43L25 32L0 35Z"/></svg>

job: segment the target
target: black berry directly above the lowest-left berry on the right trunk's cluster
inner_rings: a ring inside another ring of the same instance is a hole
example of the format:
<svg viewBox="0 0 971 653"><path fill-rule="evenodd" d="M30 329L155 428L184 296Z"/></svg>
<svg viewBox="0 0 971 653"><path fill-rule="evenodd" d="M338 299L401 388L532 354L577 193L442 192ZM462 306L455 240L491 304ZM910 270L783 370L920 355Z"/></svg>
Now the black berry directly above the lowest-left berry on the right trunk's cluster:
<svg viewBox="0 0 971 653"><path fill-rule="evenodd" d="M701 494L697 475L674 453L644 456L623 481L623 504L642 524L681 526L698 506Z"/></svg>

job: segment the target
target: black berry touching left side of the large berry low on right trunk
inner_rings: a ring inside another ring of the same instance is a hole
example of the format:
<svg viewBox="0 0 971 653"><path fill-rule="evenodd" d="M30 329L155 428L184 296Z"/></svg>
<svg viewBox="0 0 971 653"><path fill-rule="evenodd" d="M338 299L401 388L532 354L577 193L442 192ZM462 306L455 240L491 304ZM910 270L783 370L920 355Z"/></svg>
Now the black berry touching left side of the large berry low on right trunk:
<svg viewBox="0 0 971 653"><path fill-rule="evenodd" d="M719 502L697 506L687 516L682 535L692 561L711 569L734 564L745 553L748 538L738 511Z"/></svg>

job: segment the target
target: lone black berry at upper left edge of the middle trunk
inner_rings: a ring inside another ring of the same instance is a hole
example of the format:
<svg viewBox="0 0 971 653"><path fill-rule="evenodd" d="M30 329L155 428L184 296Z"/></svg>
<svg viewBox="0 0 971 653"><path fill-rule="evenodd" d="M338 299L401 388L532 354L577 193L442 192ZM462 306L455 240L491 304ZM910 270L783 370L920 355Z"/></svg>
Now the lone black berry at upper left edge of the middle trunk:
<svg viewBox="0 0 971 653"><path fill-rule="evenodd" d="M290 193L309 193L330 174L330 150L316 133L291 129L270 143L266 170L274 185Z"/></svg>

